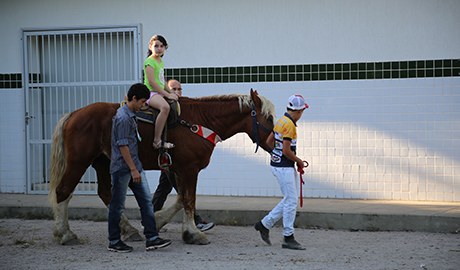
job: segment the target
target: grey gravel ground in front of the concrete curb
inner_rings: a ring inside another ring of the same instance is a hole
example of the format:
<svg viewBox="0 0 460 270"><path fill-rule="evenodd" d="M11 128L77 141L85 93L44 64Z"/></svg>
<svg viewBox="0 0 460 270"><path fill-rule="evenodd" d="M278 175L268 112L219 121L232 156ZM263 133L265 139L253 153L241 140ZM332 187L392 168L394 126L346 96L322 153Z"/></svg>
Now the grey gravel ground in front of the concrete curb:
<svg viewBox="0 0 460 270"><path fill-rule="evenodd" d="M127 242L131 253L107 251L107 221L71 220L80 244L53 241L52 220L0 219L0 269L225 269L225 270L458 270L460 234L429 232L295 230L306 250L281 248L282 228L270 230L272 245L253 226L217 225L209 245L187 245L181 224L160 236L171 246L145 251L144 241ZM140 228L140 220L131 220Z"/></svg>

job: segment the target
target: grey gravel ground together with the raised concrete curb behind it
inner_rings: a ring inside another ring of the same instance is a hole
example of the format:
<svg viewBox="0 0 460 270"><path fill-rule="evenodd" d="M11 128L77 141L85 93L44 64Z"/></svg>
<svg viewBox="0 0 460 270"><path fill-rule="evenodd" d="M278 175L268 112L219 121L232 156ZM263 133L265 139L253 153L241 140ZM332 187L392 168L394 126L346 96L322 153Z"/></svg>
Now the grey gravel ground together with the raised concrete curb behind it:
<svg viewBox="0 0 460 270"><path fill-rule="evenodd" d="M280 226L271 246L253 228L279 200L199 196L199 213L217 224L206 232L209 245L184 244L179 213L160 231L170 247L146 252L143 241L128 242L134 251L119 254L107 251L107 209L97 196L71 200L80 244L62 246L46 195L0 194L0 269L459 269L460 203L305 199L295 237L306 250L294 251L281 248ZM133 196L126 207L140 229Z"/></svg>

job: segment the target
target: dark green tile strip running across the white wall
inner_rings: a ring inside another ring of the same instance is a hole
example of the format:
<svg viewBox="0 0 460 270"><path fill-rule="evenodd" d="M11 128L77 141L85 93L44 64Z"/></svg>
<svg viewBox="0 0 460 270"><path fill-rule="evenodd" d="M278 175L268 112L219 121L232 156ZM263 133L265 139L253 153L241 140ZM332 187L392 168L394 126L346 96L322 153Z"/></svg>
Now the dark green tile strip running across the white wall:
<svg viewBox="0 0 460 270"><path fill-rule="evenodd" d="M460 59L336 64L170 68L168 79L182 83L253 83L378 80L460 76ZM31 74L29 81L40 81ZM0 88L22 88L21 73L0 74Z"/></svg>

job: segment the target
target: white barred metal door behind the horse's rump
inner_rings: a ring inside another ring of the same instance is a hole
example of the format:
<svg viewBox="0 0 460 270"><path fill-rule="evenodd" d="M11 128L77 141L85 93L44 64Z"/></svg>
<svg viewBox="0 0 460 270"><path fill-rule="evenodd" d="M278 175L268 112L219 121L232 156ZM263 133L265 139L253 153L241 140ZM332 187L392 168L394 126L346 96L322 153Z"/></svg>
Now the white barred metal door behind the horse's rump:
<svg viewBox="0 0 460 270"><path fill-rule="evenodd" d="M25 30L27 192L48 193L54 127L60 117L97 101L119 102L141 81L139 26ZM90 168L75 193L96 193Z"/></svg>

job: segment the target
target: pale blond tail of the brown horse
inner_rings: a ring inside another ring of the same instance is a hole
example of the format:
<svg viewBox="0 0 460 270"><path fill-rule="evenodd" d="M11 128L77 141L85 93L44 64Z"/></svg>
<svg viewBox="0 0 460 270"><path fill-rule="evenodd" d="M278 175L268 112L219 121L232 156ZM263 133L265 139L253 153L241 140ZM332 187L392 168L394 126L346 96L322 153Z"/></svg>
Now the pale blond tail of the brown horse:
<svg viewBox="0 0 460 270"><path fill-rule="evenodd" d="M56 124L53 133L53 143L51 145L51 159L50 159L50 185L48 199L53 206L57 206L56 188L61 183L62 176L66 170L66 156L64 153L64 137L63 130L65 123L70 117L70 113L65 114Z"/></svg>

